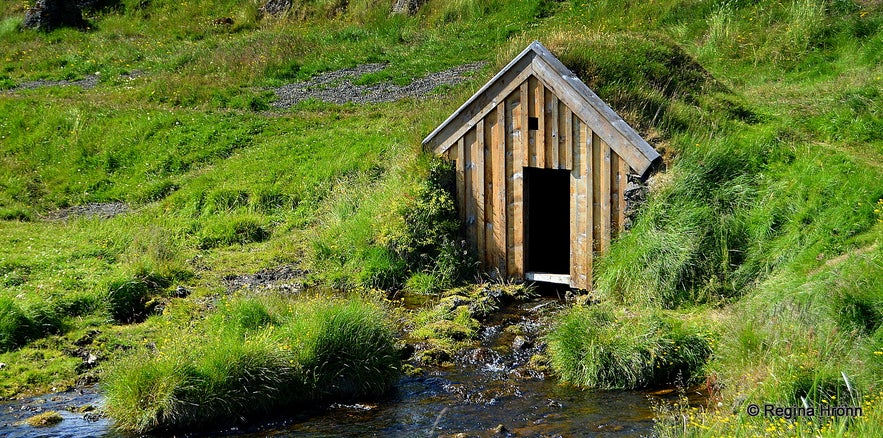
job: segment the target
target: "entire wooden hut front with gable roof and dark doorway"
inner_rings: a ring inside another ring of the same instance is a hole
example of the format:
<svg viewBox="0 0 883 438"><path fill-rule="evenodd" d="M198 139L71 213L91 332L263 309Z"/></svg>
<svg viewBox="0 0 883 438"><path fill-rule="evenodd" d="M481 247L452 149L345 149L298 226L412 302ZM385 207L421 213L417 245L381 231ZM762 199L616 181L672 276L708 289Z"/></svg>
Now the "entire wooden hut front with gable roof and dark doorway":
<svg viewBox="0 0 883 438"><path fill-rule="evenodd" d="M423 141L456 163L482 270L591 289L625 219L629 173L659 154L534 41Z"/></svg>

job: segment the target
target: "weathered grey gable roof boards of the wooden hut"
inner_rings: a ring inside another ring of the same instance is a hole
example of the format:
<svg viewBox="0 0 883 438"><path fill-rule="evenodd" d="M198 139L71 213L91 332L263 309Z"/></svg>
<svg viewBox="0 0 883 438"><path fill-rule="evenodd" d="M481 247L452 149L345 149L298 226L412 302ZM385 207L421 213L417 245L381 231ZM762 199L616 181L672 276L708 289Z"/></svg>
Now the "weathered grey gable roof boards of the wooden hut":
<svg viewBox="0 0 883 438"><path fill-rule="evenodd" d="M574 114L606 142L628 165L644 175L659 158L653 149L631 126L607 106L586 84L558 60L539 41L534 41L487 84L481 87L457 111L423 140L424 149L442 154L456 143L499 100L534 76L558 96Z"/></svg>

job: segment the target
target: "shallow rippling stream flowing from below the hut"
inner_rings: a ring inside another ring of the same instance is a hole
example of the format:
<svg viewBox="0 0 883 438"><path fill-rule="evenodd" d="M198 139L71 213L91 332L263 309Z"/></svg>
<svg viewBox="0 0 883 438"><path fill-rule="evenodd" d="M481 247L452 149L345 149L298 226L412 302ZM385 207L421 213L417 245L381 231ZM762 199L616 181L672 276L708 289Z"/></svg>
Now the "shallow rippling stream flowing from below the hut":
<svg viewBox="0 0 883 438"><path fill-rule="evenodd" d="M647 436L653 432L651 399L675 391L583 391L544 378L526 367L543 348L543 315L559 304L542 299L510 306L486 321L481 346L455 358L454 366L403 377L389 396L360 403L298 408L275 421L193 436ZM513 330L519 326L521 339ZM701 403L697 391L692 403ZM9 437L121 436L83 406L100 409L95 389L0 404L0 435ZM88 409L88 408L87 408ZM64 421L47 428L21 423L55 410ZM500 427L502 426L502 427Z"/></svg>

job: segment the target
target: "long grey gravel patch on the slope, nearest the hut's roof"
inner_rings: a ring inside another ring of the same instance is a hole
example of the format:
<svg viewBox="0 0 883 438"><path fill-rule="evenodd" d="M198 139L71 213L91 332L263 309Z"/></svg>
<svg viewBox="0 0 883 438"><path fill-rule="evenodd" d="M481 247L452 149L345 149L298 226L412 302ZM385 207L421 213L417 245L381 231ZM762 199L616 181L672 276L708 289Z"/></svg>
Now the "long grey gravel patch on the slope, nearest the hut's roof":
<svg viewBox="0 0 883 438"><path fill-rule="evenodd" d="M430 73L405 86L391 82L356 85L353 81L362 75L376 73L386 68L386 64L363 64L323 73L306 82L296 82L275 88L273 91L278 99L273 102L273 106L290 108L307 99L342 104L393 102L406 97L420 98L430 94L437 87L456 85L465 81L469 73L477 71L484 65L484 62L473 62Z"/></svg>

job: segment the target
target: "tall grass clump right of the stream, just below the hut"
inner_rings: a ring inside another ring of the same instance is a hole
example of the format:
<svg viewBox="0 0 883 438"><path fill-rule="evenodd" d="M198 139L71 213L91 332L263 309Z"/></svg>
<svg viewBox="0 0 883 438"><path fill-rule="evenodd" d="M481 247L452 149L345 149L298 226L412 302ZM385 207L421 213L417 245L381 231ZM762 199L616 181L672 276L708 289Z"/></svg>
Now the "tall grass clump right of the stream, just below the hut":
<svg viewBox="0 0 883 438"><path fill-rule="evenodd" d="M602 307L566 311L548 335L552 367L578 386L633 389L702 377L711 336L676 315Z"/></svg>

